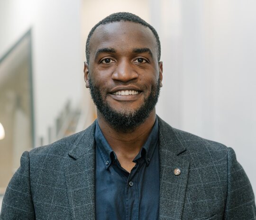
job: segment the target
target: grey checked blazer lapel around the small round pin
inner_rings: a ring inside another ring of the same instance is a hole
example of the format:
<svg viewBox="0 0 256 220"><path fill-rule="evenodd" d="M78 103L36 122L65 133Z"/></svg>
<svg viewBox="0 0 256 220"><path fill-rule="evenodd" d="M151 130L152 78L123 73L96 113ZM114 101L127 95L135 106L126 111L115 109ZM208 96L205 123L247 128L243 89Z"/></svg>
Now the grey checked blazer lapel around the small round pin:
<svg viewBox="0 0 256 220"><path fill-rule="evenodd" d="M159 220L181 220L189 159L186 157L185 144L176 135L174 129L160 118L158 118L158 122L160 157ZM180 170L180 174L177 169Z"/></svg>

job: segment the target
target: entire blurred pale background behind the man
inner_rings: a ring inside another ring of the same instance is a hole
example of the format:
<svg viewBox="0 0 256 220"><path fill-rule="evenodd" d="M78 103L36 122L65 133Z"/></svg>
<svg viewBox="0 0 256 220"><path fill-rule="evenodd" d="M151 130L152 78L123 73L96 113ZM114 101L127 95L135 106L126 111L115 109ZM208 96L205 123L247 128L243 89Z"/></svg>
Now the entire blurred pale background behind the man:
<svg viewBox="0 0 256 220"><path fill-rule="evenodd" d="M0 0L0 195L23 151L96 118L83 81L85 42L118 11L160 36L157 114L232 147L256 192L255 0Z"/></svg>

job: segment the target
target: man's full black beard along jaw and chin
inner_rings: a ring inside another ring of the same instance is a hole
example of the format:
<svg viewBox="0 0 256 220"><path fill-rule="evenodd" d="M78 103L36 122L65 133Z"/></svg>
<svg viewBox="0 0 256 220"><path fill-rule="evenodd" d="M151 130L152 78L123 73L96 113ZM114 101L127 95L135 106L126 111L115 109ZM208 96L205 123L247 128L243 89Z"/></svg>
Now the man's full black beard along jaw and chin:
<svg viewBox="0 0 256 220"><path fill-rule="evenodd" d="M151 92L144 99L142 106L133 111L121 110L118 112L107 103L106 97L102 97L100 88L91 79L89 79L89 85L91 98L104 119L116 131L125 133L134 131L137 126L145 122L155 108L160 93L160 79L158 79L157 84L151 87Z"/></svg>

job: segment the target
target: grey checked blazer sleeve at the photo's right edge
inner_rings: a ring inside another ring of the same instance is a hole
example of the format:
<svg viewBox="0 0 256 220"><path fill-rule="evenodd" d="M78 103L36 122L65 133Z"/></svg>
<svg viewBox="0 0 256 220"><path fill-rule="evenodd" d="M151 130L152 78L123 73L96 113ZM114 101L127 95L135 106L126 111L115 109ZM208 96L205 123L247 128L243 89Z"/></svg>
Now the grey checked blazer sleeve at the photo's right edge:
<svg viewBox="0 0 256 220"><path fill-rule="evenodd" d="M228 195L225 220L256 220L255 198L249 179L236 159L232 148L228 149Z"/></svg>

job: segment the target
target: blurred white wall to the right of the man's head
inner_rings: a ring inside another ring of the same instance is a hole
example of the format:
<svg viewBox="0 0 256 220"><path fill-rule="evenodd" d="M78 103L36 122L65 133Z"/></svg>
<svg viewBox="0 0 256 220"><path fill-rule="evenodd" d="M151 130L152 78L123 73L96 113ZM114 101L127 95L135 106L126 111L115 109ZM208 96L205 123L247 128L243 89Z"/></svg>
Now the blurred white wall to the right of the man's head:
<svg viewBox="0 0 256 220"><path fill-rule="evenodd" d="M232 147L256 192L256 1L151 2L163 46L158 114Z"/></svg>

